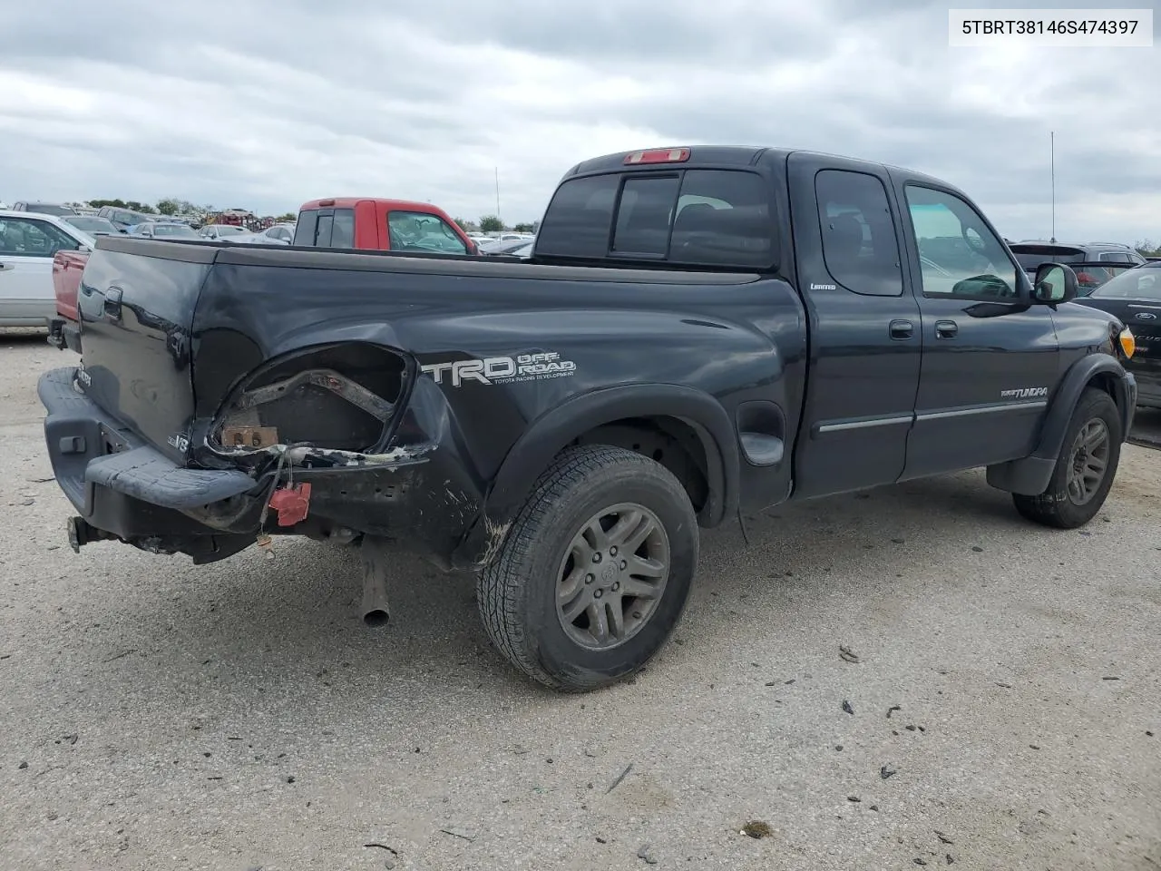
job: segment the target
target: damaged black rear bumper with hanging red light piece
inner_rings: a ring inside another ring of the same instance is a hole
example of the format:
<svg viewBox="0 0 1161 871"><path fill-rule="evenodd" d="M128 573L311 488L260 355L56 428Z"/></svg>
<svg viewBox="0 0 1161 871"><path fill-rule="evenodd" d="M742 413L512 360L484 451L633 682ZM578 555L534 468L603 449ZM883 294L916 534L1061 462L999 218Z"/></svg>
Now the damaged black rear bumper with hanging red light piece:
<svg viewBox="0 0 1161 871"><path fill-rule="evenodd" d="M479 513L482 488L446 426L417 448L359 454L277 445L237 461L219 454L223 468L188 468L88 398L73 367L45 373L38 394L53 474L79 514L70 526L74 547L120 539L212 562L265 533L346 541L367 534L447 566Z"/></svg>

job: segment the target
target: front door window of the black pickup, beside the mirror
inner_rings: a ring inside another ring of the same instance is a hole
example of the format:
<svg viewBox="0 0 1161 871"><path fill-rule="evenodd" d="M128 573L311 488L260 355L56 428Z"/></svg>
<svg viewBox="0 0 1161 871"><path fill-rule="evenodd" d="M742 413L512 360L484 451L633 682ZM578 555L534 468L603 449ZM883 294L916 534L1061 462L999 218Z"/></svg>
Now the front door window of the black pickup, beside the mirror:
<svg viewBox="0 0 1161 871"><path fill-rule="evenodd" d="M1016 268L975 209L943 190L918 185L906 189L924 296L1017 295Z"/></svg>

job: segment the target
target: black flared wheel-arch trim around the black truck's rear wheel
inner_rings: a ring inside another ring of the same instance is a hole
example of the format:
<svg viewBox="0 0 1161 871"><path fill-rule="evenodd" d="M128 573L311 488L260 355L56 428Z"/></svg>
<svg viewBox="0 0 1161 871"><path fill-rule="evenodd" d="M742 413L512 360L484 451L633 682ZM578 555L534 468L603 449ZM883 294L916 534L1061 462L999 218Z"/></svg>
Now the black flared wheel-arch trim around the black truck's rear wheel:
<svg viewBox="0 0 1161 871"><path fill-rule="evenodd" d="M694 430L706 453L709 489L699 521L720 524L737 506L740 467L737 437L721 403L679 384L610 387L569 399L528 427L500 465L484 510L453 562L462 568L488 564L553 458L590 430L640 417L672 417Z"/></svg>

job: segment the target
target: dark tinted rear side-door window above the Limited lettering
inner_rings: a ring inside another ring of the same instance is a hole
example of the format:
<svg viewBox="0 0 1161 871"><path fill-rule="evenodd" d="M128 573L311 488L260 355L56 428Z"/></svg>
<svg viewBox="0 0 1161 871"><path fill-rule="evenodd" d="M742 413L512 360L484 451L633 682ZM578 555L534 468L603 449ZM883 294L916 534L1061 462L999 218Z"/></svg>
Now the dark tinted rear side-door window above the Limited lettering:
<svg viewBox="0 0 1161 871"><path fill-rule="evenodd" d="M827 272L857 294L902 296L899 239L882 182L866 173L823 170L815 193Z"/></svg>

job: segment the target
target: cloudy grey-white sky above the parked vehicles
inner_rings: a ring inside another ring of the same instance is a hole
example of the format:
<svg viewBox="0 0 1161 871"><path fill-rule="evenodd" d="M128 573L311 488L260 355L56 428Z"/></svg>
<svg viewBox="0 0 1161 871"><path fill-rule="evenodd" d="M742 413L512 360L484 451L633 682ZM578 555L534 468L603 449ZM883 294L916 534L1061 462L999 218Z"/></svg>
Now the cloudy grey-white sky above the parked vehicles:
<svg viewBox="0 0 1161 871"><path fill-rule="evenodd" d="M1012 5L1030 3L971 3ZM1161 41L952 49L946 0L8 7L9 203L176 196L268 214L359 194L477 218L496 211L498 170L514 223L587 157L766 144L929 172L1010 238L1047 237L1055 130L1057 237L1161 240Z"/></svg>

